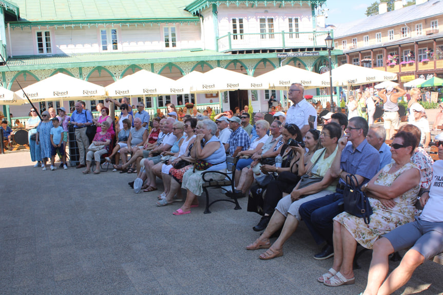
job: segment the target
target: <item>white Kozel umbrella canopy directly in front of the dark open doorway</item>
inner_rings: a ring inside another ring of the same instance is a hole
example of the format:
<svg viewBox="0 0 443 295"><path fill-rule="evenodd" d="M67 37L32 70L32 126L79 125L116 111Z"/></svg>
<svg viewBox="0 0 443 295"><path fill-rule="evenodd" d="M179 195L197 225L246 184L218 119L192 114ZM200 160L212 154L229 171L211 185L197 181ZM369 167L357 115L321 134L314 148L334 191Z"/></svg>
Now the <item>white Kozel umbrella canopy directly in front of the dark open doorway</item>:
<svg viewBox="0 0 443 295"><path fill-rule="evenodd" d="M238 72L215 68L204 73L201 78L193 83L192 92L208 93L230 90L268 89L268 85L255 77Z"/></svg>

